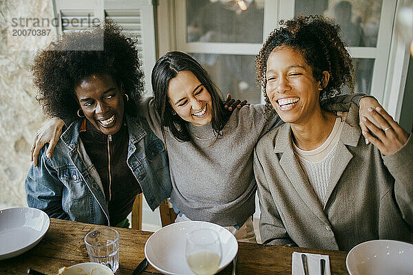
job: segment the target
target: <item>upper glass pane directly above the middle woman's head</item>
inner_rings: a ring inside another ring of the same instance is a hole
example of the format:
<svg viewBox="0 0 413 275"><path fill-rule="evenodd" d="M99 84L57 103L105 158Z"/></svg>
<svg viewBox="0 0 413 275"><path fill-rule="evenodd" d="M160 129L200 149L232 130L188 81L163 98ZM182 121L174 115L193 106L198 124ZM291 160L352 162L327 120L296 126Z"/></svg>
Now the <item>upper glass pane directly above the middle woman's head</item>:
<svg viewBox="0 0 413 275"><path fill-rule="evenodd" d="M262 43L264 0L187 0L187 42Z"/></svg>

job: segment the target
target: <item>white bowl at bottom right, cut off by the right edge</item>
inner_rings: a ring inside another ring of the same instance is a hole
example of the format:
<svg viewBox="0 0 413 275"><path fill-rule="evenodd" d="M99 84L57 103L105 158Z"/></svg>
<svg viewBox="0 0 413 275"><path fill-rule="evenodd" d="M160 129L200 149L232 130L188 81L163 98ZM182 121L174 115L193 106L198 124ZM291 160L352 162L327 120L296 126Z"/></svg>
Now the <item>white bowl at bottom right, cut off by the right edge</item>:
<svg viewBox="0 0 413 275"><path fill-rule="evenodd" d="M347 254L350 275L413 274L413 245L402 241L366 241Z"/></svg>

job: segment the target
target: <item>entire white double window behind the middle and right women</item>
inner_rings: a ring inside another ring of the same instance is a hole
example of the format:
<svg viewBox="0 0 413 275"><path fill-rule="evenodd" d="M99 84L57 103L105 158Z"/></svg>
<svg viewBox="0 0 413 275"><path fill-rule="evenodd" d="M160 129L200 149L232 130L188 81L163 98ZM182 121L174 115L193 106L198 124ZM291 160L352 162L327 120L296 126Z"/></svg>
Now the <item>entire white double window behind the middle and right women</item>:
<svg viewBox="0 0 413 275"><path fill-rule="evenodd" d="M171 36L176 43L170 50L197 58L222 94L263 102L253 64L262 43L280 20L321 14L341 25L354 61L354 91L372 94L397 118L401 100L390 99L390 91L403 98L404 80L394 72L402 71L403 66L407 69L408 55L401 54L402 64L391 63L397 57L396 49L391 49L396 5L396 0L175 0L175 33ZM158 20L162 25L163 19ZM159 42L165 43L162 37ZM397 91L394 82L399 84Z"/></svg>

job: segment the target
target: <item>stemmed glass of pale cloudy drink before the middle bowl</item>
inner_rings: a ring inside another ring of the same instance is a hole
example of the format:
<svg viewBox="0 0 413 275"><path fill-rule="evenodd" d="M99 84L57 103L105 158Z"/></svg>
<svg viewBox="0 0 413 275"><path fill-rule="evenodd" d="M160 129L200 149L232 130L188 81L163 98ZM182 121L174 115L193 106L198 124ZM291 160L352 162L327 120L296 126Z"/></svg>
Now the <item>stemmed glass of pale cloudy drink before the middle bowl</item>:
<svg viewBox="0 0 413 275"><path fill-rule="evenodd" d="M220 236L209 228L193 230L187 236L186 256L193 273L215 274L220 267L222 257Z"/></svg>

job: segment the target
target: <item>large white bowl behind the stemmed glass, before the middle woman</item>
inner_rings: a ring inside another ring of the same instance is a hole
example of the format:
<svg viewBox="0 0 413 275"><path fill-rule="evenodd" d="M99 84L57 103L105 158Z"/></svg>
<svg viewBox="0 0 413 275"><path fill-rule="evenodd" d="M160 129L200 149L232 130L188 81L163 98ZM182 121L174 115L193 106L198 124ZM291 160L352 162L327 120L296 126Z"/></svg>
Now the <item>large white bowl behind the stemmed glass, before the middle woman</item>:
<svg viewBox="0 0 413 275"><path fill-rule="evenodd" d="M220 236L222 259L218 272L223 270L237 254L238 243L231 232L207 221L172 223L154 232L145 244L145 256L149 263L163 274L194 274L187 264L185 246L187 235L198 228L211 228Z"/></svg>

